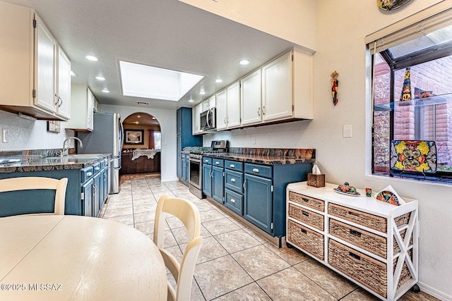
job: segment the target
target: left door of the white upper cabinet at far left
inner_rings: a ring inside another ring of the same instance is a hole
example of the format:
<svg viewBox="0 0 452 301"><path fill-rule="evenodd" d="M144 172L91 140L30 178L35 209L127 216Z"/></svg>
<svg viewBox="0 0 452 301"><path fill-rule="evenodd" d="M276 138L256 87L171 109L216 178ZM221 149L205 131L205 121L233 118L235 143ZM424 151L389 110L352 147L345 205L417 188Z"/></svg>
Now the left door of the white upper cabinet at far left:
<svg viewBox="0 0 452 301"><path fill-rule="evenodd" d="M35 105L52 113L57 111L57 42L38 16L36 27Z"/></svg>

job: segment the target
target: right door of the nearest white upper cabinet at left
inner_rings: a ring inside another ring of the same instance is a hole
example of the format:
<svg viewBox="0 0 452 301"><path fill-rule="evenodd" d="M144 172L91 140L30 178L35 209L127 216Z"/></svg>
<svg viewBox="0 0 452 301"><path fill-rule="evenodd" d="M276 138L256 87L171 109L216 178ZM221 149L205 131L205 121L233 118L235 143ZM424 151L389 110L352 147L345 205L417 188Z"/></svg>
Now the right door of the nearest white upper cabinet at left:
<svg viewBox="0 0 452 301"><path fill-rule="evenodd" d="M71 61L63 49L58 47L58 102L57 114L65 119L71 118Z"/></svg>

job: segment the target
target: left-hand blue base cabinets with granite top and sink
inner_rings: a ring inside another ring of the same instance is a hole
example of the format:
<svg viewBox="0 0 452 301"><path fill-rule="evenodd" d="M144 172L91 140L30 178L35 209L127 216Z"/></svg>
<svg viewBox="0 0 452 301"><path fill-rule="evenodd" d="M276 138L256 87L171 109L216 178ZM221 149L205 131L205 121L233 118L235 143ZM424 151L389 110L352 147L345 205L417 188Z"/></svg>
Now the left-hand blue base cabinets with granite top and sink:
<svg viewBox="0 0 452 301"><path fill-rule="evenodd" d="M0 179L68 178L64 214L97 216L108 196L107 163L110 154L51 155L48 152L4 152L0 156ZM52 212L53 198L53 193L48 190L2 192L0 217Z"/></svg>

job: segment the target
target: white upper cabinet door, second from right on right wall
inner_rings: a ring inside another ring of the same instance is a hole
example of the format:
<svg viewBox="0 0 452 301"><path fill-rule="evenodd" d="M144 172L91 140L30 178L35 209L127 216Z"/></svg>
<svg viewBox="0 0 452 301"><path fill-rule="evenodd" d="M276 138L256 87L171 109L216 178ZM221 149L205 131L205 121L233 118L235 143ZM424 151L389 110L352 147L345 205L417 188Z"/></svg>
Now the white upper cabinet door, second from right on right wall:
<svg viewBox="0 0 452 301"><path fill-rule="evenodd" d="M242 125L262 122L262 82L261 69L242 79L241 99Z"/></svg>

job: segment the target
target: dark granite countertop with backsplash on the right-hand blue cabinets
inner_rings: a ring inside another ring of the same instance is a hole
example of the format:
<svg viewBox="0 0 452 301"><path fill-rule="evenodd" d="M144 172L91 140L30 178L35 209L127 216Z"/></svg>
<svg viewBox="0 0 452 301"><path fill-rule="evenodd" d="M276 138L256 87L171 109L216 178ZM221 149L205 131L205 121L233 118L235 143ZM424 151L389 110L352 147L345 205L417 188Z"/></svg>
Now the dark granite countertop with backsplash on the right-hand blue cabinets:
<svg viewBox="0 0 452 301"><path fill-rule="evenodd" d="M267 165L302 164L316 161L315 149L231 148L227 153L203 154L210 158Z"/></svg>

